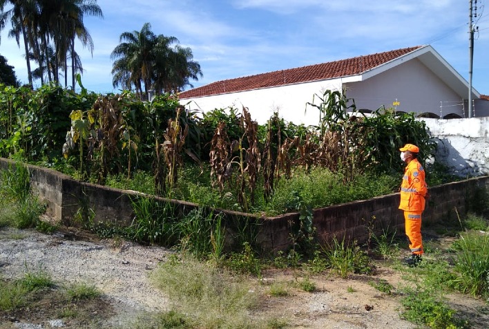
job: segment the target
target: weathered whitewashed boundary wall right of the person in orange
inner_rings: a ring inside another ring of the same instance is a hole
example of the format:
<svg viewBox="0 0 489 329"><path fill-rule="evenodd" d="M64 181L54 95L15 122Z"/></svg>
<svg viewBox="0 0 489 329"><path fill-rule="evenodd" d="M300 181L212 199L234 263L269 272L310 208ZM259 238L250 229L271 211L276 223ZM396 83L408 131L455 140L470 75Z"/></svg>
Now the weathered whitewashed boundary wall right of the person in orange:
<svg viewBox="0 0 489 329"><path fill-rule="evenodd" d="M438 144L436 158L459 176L489 175L489 118L422 119Z"/></svg>

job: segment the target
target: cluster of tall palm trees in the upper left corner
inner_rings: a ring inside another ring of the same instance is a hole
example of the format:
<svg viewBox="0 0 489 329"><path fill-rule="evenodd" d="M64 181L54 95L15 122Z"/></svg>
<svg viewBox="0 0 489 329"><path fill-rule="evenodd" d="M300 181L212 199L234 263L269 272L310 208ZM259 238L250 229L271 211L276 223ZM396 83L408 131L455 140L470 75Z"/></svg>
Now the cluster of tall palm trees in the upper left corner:
<svg viewBox="0 0 489 329"><path fill-rule="evenodd" d="M12 8L4 12L7 4ZM71 59L72 82L75 86L75 74L81 71L81 62L75 52L75 39L78 38L93 53L93 40L84 26L84 15L103 17L96 0L0 0L0 30L10 19L12 30L9 36L15 37L18 45L20 35L23 36L31 86L30 59L35 59L39 64L36 73L42 84L44 70L47 70L50 82L58 82L59 72L63 70L67 86L68 58ZM48 62L52 59L49 54L51 42L55 50L54 63Z"/></svg>

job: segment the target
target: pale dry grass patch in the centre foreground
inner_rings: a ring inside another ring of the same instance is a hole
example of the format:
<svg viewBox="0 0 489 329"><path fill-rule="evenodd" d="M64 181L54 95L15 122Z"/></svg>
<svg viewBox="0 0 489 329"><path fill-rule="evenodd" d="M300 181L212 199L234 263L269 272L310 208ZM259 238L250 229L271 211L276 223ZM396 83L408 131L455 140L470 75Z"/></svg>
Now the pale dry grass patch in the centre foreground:
<svg viewBox="0 0 489 329"><path fill-rule="evenodd" d="M191 314L191 319L185 318L186 328L265 328L265 323L253 322L249 316L258 292L245 276L184 258L164 263L151 278L169 296L173 311Z"/></svg>

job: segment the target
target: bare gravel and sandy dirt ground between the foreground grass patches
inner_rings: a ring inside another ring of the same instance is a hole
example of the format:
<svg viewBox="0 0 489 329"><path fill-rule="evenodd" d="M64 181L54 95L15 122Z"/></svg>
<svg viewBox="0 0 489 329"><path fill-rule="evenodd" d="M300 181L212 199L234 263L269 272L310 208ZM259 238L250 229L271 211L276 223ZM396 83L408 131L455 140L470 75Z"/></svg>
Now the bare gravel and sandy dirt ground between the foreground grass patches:
<svg viewBox="0 0 489 329"><path fill-rule="evenodd" d="M166 310L168 301L151 285L148 274L170 254L163 247L100 240L81 231L46 235L33 230L0 230L0 275L3 279L19 278L26 270L44 270L57 282L96 285L107 304L99 307L107 314L97 328L129 328L128 323L138 314ZM262 278L265 283L290 283L300 279L303 279L300 272L291 270L268 270ZM291 288L285 297L267 296L257 313L260 317L285 319L290 328L419 328L399 317L399 297L379 292L369 284L372 280L384 279L397 286L400 275L388 267L378 267L375 276L345 280L318 275L309 279L316 285L316 292ZM468 297L463 298L468 300ZM484 305L474 299L467 304L460 307L468 313L470 310L477 313L477 307ZM92 312L96 314L97 307ZM52 323L56 322L53 321L61 321L64 328L77 328L57 319L55 314L45 317L18 314L14 319L0 317L0 328L54 328ZM481 321L489 323L489 317Z"/></svg>

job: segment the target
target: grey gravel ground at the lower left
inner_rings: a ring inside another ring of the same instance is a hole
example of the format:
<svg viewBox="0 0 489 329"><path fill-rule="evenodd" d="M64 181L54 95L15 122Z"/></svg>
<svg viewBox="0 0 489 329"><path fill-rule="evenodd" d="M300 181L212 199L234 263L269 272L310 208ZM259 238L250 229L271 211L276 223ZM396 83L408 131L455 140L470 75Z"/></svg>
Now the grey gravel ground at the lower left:
<svg viewBox="0 0 489 329"><path fill-rule="evenodd" d="M46 235L34 230L0 230L0 273L6 279L17 279L26 271L41 270L56 282L95 285L117 313L107 328L122 326L140 312L164 310L166 298L151 285L148 274L169 250L79 238L79 232Z"/></svg>

